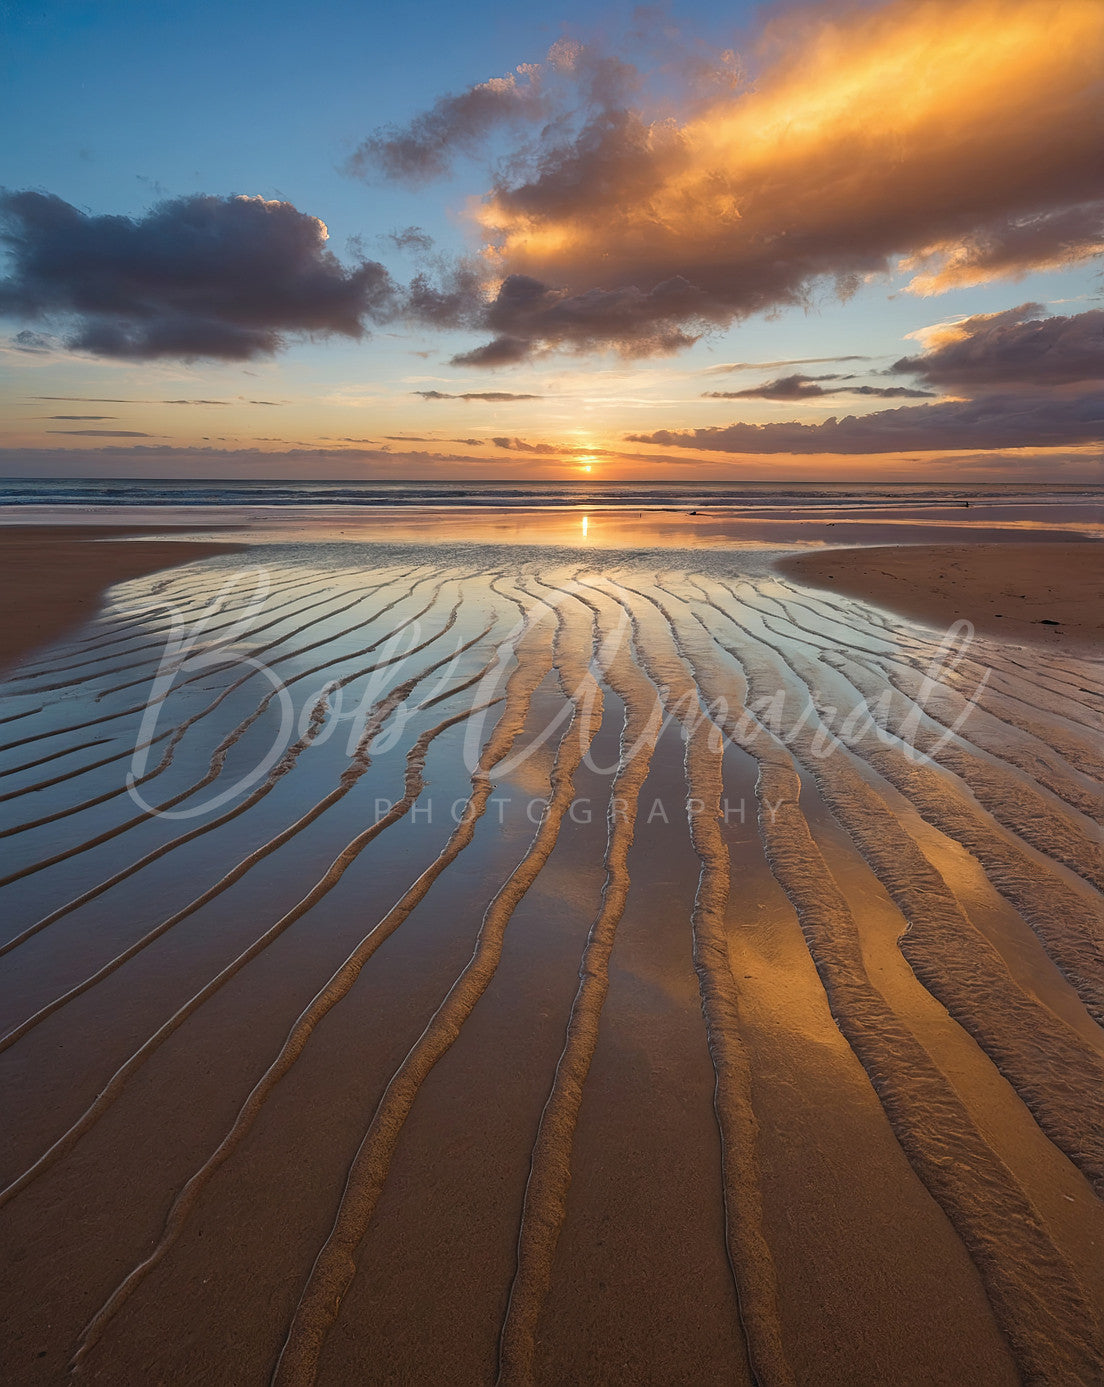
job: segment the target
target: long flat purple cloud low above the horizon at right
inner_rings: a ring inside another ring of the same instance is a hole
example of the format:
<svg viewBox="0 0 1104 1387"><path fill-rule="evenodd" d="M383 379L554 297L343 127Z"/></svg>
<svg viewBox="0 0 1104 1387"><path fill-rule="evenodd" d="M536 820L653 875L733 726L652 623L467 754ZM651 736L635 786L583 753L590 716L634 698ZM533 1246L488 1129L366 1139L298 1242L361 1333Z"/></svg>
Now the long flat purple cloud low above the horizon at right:
<svg viewBox="0 0 1104 1387"><path fill-rule="evenodd" d="M748 454L936 452L1053 448L1104 438L1104 391L1073 398L1001 394L906 405L820 424L735 423L727 427L628 434L630 442Z"/></svg>

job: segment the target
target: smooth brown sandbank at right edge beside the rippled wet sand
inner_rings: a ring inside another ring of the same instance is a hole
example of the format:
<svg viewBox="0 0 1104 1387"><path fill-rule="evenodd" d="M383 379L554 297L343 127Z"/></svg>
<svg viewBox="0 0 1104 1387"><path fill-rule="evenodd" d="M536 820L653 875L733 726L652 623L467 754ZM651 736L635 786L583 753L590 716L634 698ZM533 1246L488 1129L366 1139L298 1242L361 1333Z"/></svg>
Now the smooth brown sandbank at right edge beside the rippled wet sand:
<svg viewBox="0 0 1104 1387"><path fill-rule="evenodd" d="M904 544L779 558L788 578L946 630L1104 655L1104 544Z"/></svg>

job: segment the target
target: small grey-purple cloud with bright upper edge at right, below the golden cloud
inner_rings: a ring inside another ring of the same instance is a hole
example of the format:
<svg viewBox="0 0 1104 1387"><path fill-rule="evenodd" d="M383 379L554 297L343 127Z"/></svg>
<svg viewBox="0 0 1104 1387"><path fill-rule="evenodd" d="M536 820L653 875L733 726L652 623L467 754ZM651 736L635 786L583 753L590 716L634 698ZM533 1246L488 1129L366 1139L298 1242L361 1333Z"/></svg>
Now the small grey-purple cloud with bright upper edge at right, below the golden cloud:
<svg viewBox="0 0 1104 1387"><path fill-rule="evenodd" d="M1104 380L1104 311L1044 313L1042 304L1021 304L929 329L928 351L903 356L892 369L971 393Z"/></svg>

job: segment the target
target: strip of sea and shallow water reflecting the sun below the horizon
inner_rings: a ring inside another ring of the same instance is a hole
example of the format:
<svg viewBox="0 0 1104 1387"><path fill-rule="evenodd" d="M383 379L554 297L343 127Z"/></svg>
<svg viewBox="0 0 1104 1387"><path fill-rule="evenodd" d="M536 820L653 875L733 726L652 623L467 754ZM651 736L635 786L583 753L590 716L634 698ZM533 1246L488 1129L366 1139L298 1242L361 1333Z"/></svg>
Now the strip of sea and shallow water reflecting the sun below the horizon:
<svg viewBox="0 0 1104 1387"><path fill-rule="evenodd" d="M255 538L334 537L706 551L824 544L1104 537L1085 484L427 483L0 479L4 524L244 526Z"/></svg>

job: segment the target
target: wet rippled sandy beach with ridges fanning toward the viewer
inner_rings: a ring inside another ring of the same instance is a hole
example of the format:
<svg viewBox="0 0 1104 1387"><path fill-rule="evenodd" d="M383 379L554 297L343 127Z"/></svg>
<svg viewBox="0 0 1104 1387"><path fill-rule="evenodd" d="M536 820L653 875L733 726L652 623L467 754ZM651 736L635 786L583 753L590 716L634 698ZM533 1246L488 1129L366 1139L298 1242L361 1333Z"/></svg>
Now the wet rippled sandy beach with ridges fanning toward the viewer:
<svg viewBox="0 0 1104 1387"><path fill-rule="evenodd" d="M721 523L0 534L8 1380L1100 1381L1104 549Z"/></svg>

